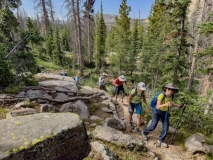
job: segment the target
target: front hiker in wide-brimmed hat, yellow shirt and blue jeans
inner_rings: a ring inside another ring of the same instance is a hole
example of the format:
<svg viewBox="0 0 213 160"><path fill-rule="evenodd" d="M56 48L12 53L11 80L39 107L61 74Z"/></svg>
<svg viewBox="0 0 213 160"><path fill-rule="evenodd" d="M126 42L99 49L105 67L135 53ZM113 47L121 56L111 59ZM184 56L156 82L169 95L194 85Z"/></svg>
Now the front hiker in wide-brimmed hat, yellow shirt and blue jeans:
<svg viewBox="0 0 213 160"><path fill-rule="evenodd" d="M173 83L168 83L166 86L162 87L163 93L160 93L157 97L156 107L152 112L152 123L145 130L141 132L144 140L148 140L147 135L149 132L153 131L159 120L162 121L162 132L159 136L158 143L163 147L168 147L168 145L164 142L168 129L169 129L169 107L180 107L180 105L173 103L173 97L175 93L179 91L177 87ZM186 107L186 105L184 105Z"/></svg>

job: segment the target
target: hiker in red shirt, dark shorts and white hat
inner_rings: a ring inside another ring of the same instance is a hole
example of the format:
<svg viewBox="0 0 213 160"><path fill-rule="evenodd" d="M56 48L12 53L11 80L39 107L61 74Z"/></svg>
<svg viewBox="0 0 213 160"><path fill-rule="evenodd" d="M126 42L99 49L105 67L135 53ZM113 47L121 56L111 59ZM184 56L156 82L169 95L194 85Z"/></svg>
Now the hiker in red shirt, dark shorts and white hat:
<svg viewBox="0 0 213 160"><path fill-rule="evenodd" d="M124 98L124 86L123 86L123 83L125 83L126 86L127 86L126 77L123 76L123 75L119 76L118 78L116 78L113 81L113 85L114 85L114 89L115 89L115 100L116 101L117 101L117 98L118 98L118 94L121 91L122 92L122 102L123 102L123 98Z"/></svg>

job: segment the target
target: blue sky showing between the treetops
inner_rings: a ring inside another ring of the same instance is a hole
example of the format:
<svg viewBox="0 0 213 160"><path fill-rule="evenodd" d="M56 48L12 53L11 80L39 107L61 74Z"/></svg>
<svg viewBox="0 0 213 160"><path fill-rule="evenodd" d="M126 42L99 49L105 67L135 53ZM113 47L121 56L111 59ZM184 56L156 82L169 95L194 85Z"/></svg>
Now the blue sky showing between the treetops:
<svg viewBox="0 0 213 160"><path fill-rule="evenodd" d="M115 14L119 15L119 8L122 0L95 0L94 11L97 13L100 11L100 6L103 6L104 14ZM144 19L149 16L150 9L155 0L127 0L127 5L131 7L129 17ZM34 0L22 0L21 8L25 10L29 17L35 17L36 11L34 9ZM65 19L66 9L62 7L64 0L52 0L55 16L59 19Z"/></svg>

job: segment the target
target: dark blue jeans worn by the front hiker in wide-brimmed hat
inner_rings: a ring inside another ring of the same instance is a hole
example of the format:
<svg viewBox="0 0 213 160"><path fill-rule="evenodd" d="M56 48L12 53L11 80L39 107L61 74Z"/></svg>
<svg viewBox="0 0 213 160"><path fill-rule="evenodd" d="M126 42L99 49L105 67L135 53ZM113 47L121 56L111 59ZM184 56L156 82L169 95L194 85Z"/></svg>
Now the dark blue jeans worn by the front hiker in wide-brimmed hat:
<svg viewBox="0 0 213 160"><path fill-rule="evenodd" d="M152 112L152 123L151 123L150 126L148 126L143 131L143 134L147 135L147 134L149 134L149 132L153 131L156 128L159 120L161 120L163 128L162 128L162 132L161 132L160 137L159 137L159 141L160 142L164 142L164 140L166 138L166 135L167 135L167 132L168 132L168 129L169 129L169 117L168 117L168 113L163 112L163 111L159 111L159 110L156 111L156 112L155 111Z"/></svg>

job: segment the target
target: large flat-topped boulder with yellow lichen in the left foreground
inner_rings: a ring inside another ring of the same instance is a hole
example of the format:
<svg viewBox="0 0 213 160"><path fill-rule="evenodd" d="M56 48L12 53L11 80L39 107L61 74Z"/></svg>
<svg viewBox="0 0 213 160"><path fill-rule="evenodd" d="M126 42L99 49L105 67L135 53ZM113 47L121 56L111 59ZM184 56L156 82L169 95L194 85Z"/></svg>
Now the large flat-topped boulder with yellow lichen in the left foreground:
<svg viewBox="0 0 213 160"><path fill-rule="evenodd" d="M0 159L81 160L91 150L83 122L73 113L12 117L0 126Z"/></svg>

